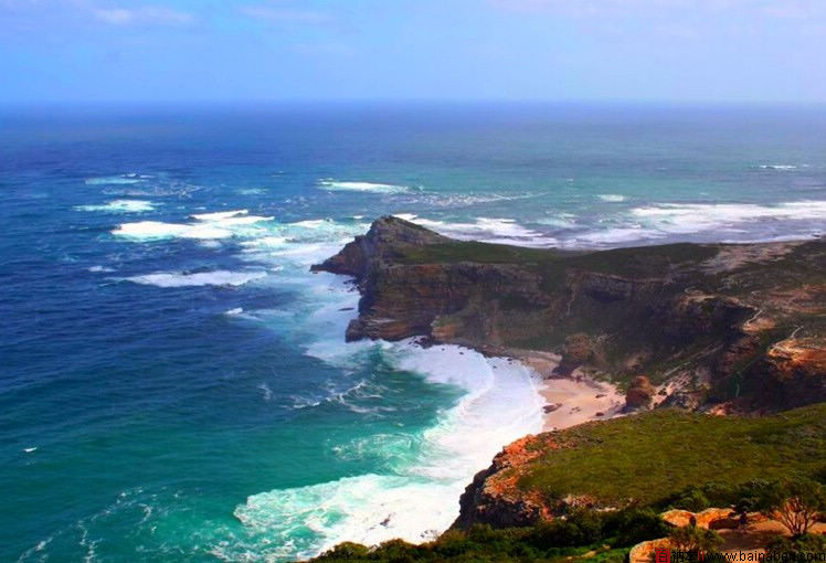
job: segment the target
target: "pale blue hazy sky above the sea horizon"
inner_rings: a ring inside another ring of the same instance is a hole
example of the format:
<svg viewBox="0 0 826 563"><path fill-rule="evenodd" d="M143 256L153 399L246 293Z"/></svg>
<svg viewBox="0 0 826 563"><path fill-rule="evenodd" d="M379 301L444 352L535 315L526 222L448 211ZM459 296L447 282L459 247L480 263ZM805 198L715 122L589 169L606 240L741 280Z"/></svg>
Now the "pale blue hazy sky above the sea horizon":
<svg viewBox="0 0 826 563"><path fill-rule="evenodd" d="M826 0L0 0L0 104L826 102Z"/></svg>

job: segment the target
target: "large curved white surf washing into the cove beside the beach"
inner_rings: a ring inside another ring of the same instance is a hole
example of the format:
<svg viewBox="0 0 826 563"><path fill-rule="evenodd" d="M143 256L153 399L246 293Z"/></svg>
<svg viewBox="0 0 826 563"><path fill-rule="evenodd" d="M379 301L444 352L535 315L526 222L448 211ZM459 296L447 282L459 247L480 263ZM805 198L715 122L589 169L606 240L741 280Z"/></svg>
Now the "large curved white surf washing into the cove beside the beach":
<svg viewBox="0 0 826 563"><path fill-rule="evenodd" d="M462 491L502 444L541 429L543 402L523 365L455 346L379 346L396 358L398 369L457 385L465 396L421 435L379 440L401 450L392 472L250 497L235 516L252 539L261 540L255 543L272 545L263 548L266 556L311 556L342 541L371 545L393 538L433 539L456 519ZM417 454L410 454L412 445ZM225 551L221 555L232 559Z"/></svg>

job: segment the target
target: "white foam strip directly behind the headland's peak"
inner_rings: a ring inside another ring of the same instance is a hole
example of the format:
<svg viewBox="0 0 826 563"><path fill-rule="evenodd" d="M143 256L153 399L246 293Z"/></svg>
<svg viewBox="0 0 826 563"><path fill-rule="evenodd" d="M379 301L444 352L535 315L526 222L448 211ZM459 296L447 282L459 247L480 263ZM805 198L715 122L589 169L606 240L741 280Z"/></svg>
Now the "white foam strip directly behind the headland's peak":
<svg viewBox="0 0 826 563"><path fill-rule="evenodd" d="M539 231L520 225L512 219L476 217L474 223L449 223L423 219L412 213L395 213L394 216L459 241L481 241L538 247L552 246L558 242Z"/></svg>

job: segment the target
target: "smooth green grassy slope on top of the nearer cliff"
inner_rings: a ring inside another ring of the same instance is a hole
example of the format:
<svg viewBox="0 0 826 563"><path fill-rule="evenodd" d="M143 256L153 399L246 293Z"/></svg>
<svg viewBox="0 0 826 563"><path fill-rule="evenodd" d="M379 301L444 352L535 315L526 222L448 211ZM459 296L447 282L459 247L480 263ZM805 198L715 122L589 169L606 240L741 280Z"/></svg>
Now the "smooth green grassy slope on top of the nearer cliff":
<svg viewBox="0 0 826 563"><path fill-rule="evenodd" d="M546 498L591 495L600 501L661 503L689 486L732 485L826 467L826 404L760 418L673 410L575 426L563 447L532 463L523 490Z"/></svg>

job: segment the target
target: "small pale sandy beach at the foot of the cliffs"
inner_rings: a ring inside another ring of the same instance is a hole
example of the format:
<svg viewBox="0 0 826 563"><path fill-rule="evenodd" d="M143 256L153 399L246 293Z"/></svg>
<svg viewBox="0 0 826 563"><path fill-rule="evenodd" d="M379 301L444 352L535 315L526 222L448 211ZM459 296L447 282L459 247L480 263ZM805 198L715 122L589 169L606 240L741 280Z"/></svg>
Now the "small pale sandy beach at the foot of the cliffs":
<svg viewBox="0 0 826 563"><path fill-rule="evenodd" d="M623 414L625 395L615 385L591 380L580 370L574 370L570 378L555 376L553 370L559 365L559 355L517 349L509 349L507 354L542 378L539 394L548 406L561 405L555 411L546 412L543 431L568 428L589 421L605 421Z"/></svg>

